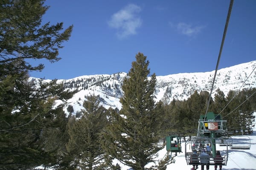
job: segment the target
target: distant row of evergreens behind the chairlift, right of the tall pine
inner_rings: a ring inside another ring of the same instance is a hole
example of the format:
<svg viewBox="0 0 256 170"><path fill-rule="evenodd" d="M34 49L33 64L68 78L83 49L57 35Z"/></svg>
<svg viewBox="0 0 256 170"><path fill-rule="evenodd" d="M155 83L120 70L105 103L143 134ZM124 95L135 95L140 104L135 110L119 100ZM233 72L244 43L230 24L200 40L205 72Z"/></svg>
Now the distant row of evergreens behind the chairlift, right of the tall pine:
<svg viewBox="0 0 256 170"><path fill-rule="evenodd" d="M219 89L214 99L209 103L209 112L214 112L227 120L229 133L251 132L256 111L256 88L243 89L242 91L229 91L227 96ZM250 97L250 98L249 98ZM196 135L198 119L205 115L209 93L195 91L188 99L179 101L173 99L169 105L164 105L165 133L177 133L183 136Z"/></svg>

